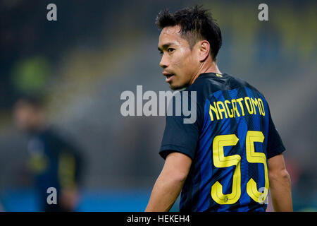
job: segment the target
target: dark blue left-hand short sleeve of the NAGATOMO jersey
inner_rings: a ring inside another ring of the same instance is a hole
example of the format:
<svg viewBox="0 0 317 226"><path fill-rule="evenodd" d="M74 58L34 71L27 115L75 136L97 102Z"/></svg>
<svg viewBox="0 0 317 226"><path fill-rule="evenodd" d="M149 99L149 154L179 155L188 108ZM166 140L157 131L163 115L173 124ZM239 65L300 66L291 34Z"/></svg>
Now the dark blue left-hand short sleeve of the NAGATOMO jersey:
<svg viewBox="0 0 317 226"><path fill-rule="evenodd" d="M182 97L184 95L182 91ZM197 143L199 140L199 121L201 121L201 113L199 105L197 105L196 98L193 99L192 92L187 93L188 105L191 106L191 114L196 114L193 123L185 123L185 119L189 116L185 116L183 110L179 116L173 114L172 116L166 116L166 127L163 133L163 139L159 154L165 160L168 154L178 152L189 156L192 160L194 159ZM186 98L185 98L186 99ZM184 103L182 98L182 104ZM175 107L175 105L173 105ZM194 109L192 108L194 107ZM185 107L186 109L186 107ZM174 112L175 113L175 112ZM188 114L187 114L188 115ZM190 115L192 117L192 115Z"/></svg>

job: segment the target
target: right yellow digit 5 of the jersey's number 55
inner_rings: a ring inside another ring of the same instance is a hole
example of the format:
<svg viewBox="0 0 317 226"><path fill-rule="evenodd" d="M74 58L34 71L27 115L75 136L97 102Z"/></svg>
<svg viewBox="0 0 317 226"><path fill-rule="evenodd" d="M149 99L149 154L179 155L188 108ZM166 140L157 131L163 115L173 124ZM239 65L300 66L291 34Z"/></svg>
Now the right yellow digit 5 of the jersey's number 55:
<svg viewBox="0 0 317 226"><path fill-rule="evenodd" d="M262 203L266 199L266 196L268 196L268 167L266 165L266 155L264 153L256 153L254 151L254 142L263 143L263 140L264 136L262 132L247 132L247 161L251 163L262 163L264 165L265 189L263 193L256 189L256 182L254 182L254 179L251 178L247 183L247 194L257 203Z"/></svg>

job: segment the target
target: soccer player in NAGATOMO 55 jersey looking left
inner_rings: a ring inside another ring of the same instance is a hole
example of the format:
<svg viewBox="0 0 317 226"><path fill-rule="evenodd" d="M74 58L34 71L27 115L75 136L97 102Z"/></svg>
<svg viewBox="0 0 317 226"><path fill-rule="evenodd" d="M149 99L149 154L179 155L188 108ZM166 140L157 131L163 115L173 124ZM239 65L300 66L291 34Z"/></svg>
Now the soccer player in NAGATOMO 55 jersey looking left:
<svg viewBox="0 0 317 226"><path fill-rule="evenodd" d="M209 11L164 10L156 25L163 76L172 90L196 92L188 102L195 102L197 120L185 124L184 112L166 117L159 153L165 164L146 211L170 210L180 191L180 211L265 211L268 189L275 211L292 211L285 148L268 102L249 83L219 71L222 38Z"/></svg>

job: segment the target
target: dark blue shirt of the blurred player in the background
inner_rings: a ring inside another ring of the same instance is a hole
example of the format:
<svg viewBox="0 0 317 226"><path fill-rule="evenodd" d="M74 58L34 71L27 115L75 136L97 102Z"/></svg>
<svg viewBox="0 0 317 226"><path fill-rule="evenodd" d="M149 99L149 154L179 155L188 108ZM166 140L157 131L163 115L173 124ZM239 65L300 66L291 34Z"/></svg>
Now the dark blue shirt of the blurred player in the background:
<svg viewBox="0 0 317 226"><path fill-rule="evenodd" d="M52 129L32 132L27 150L29 167L34 174L35 189L41 211L64 211L60 206L62 189L72 189L80 181L82 157L75 145L58 136ZM46 201L47 189L57 191L57 204ZM69 210L68 210L69 211Z"/></svg>

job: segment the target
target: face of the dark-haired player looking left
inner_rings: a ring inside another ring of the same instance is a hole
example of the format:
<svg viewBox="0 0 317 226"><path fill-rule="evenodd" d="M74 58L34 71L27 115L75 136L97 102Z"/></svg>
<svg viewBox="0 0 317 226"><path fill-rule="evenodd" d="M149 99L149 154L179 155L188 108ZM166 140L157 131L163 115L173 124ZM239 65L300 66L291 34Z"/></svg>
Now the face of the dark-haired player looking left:
<svg viewBox="0 0 317 226"><path fill-rule="evenodd" d="M190 49L187 40L180 36L180 25L163 28L159 37L160 66L170 89L178 90L191 84L199 70L197 49Z"/></svg>

